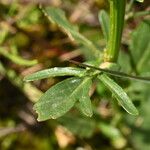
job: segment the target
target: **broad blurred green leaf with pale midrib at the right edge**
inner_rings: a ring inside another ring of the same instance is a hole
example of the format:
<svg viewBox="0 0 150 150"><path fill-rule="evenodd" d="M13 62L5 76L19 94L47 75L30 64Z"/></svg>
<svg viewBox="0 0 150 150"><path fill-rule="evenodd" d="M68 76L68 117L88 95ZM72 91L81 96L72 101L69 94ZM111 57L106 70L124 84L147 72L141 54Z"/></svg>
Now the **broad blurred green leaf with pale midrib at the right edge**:
<svg viewBox="0 0 150 150"><path fill-rule="evenodd" d="M139 73L150 67L150 21L142 22L132 34L130 51Z"/></svg>

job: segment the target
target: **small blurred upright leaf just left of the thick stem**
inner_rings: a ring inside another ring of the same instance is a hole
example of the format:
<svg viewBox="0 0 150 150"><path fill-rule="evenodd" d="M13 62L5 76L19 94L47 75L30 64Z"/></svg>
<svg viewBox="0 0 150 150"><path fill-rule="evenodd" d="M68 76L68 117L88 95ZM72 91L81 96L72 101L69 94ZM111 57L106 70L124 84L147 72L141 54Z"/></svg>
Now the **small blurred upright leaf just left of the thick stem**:
<svg viewBox="0 0 150 150"><path fill-rule="evenodd" d="M108 41L109 38L109 15L105 10L101 10L98 14L99 22L103 31L104 38Z"/></svg>

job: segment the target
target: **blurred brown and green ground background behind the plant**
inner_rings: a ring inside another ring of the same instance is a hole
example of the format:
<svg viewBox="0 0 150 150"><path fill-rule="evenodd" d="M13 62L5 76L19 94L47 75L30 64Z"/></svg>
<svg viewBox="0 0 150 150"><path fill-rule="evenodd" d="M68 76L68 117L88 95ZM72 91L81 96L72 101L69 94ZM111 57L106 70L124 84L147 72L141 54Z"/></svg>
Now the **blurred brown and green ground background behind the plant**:
<svg viewBox="0 0 150 150"><path fill-rule="evenodd" d="M150 75L150 1L127 3L119 64L127 73ZM138 117L116 108L109 91L95 81L92 118L72 110L59 119L37 122L34 103L64 77L33 83L23 82L23 77L91 57L48 20L39 4L61 8L100 50L106 45L98 19L102 9L109 13L106 0L0 0L0 150L150 149L150 84L117 81L138 107Z"/></svg>

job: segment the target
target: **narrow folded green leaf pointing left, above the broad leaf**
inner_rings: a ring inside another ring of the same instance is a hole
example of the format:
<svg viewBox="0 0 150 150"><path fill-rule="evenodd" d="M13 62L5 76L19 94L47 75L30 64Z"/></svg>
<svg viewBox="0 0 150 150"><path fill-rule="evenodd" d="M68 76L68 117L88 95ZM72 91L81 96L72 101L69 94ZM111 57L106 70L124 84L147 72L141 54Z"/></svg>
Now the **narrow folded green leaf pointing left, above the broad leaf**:
<svg viewBox="0 0 150 150"><path fill-rule="evenodd" d="M28 75L24 78L24 81L34 81L45 79L49 77L56 77L56 76L84 76L86 73L85 69L80 68L73 68L73 67L55 67L51 69L45 69L38 72L35 72L31 75Z"/></svg>

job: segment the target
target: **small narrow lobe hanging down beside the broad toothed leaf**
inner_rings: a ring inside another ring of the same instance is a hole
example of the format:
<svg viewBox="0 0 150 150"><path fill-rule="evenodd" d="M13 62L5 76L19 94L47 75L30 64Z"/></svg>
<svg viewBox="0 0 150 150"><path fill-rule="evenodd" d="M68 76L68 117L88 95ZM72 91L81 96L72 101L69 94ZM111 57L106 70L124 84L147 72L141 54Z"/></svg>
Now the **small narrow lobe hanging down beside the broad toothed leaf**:
<svg viewBox="0 0 150 150"><path fill-rule="evenodd" d="M92 86L91 78L87 77L84 79L84 84L78 90L77 98L79 99L79 109L86 116L91 117L93 115L92 104L89 97L89 90Z"/></svg>

